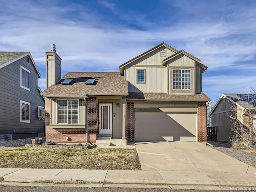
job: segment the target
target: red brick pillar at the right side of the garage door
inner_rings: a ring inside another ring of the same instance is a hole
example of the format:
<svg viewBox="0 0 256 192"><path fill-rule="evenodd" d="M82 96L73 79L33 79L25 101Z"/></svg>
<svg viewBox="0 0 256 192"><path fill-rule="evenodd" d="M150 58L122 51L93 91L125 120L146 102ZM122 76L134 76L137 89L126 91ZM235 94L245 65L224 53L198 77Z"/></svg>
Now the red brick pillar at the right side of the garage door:
<svg viewBox="0 0 256 192"><path fill-rule="evenodd" d="M198 102L198 142L206 142L206 102Z"/></svg>

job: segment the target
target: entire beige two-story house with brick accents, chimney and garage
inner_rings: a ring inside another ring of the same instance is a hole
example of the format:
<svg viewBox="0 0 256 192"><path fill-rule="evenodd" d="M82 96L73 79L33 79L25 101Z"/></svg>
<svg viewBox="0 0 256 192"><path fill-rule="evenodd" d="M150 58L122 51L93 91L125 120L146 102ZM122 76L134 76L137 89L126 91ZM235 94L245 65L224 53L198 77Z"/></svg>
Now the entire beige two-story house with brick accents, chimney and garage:
<svg viewBox="0 0 256 192"><path fill-rule="evenodd" d="M46 139L205 142L210 99L202 93L207 67L200 62L162 43L122 64L120 72L61 78L61 58L54 49L46 52Z"/></svg>

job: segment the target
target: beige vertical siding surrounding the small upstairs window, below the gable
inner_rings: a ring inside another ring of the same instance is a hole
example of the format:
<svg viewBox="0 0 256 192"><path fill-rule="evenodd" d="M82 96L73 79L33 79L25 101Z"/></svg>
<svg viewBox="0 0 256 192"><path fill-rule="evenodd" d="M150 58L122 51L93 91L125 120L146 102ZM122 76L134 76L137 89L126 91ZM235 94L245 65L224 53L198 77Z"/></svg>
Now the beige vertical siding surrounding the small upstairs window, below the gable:
<svg viewBox="0 0 256 192"><path fill-rule="evenodd" d="M146 70L146 84L137 84L137 70ZM162 92L166 93L167 76L165 67L126 67L128 92Z"/></svg>

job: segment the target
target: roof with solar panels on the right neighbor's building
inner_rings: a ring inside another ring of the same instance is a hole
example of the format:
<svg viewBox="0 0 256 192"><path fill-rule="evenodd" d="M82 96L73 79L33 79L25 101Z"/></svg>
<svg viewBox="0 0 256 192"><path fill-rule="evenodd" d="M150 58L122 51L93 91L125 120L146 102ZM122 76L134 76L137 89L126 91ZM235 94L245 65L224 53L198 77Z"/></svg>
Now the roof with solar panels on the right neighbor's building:
<svg viewBox="0 0 256 192"><path fill-rule="evenodd" d="M210 112L209 116L212 114L212 112L214 112L214 110L217 108L220 101L224 98L226 98L230 102L236 104L238 107L240 107L243 110L256 110L256 106L253 106L252 104L250 104L250 102L247 102L246 100L244 100L243 98L241 98L238 95L239 95L238 93L237 94L235 94L235 93L223 93L220 96L219 100L214 105L214 108ZM256 96L256 94L249 94L249 93L248 93L248 95Z"/></svg>

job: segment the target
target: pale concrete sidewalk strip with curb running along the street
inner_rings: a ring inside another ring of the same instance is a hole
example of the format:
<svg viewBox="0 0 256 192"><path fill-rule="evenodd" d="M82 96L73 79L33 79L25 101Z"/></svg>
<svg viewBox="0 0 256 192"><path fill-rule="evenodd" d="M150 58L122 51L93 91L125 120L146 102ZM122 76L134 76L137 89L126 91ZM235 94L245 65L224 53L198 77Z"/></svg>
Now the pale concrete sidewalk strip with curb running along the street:
<svg viewBox="0 0 256 192"><path fill-rule="evenodd" d="M254 173L207 173L196 171L140 170L61 170L0 168L0 185L80 187L176 188L230 190L230 187L256 190ZM13 182L16 182L14 184ZM46 185L46 183L48 185Z"/></svg>

